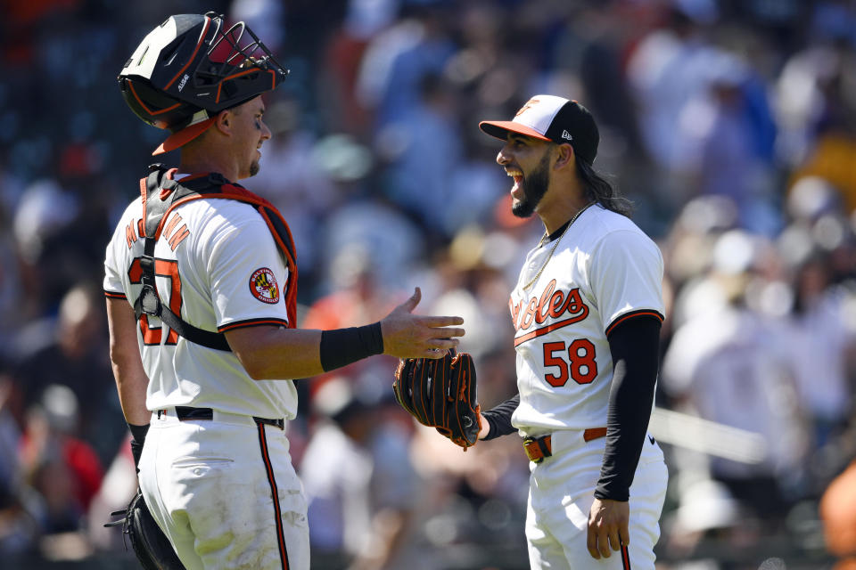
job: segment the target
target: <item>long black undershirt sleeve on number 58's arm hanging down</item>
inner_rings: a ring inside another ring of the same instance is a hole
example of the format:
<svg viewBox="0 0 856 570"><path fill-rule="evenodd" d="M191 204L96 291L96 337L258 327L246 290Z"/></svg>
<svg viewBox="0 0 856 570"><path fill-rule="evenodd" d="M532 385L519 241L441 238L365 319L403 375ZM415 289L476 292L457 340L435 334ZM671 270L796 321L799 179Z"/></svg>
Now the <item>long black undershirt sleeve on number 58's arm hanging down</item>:
<svg viewBox="0 0 856 570"><path fill-rule="evenodd" d="M646 444L660 354L660 321L638 316L621 322L608 337L613 383L606 418L606 450L595 497L627 501Z"/></svg>

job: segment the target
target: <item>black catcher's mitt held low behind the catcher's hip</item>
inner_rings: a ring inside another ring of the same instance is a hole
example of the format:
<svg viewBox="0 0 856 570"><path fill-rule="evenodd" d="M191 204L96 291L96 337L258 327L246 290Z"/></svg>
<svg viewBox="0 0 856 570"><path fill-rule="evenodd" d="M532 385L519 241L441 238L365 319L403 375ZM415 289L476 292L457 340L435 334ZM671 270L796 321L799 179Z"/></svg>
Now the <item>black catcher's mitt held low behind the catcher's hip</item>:
<svg viewBox="0 0 856 570"><path fill-rule="evenodd" d="M117 510L110 515L121 518L104 526L122 525L122 533L130 537L136 558L139 558L145 570L185 570L167 535L152 518L139 489L127 509Z"/></svg>

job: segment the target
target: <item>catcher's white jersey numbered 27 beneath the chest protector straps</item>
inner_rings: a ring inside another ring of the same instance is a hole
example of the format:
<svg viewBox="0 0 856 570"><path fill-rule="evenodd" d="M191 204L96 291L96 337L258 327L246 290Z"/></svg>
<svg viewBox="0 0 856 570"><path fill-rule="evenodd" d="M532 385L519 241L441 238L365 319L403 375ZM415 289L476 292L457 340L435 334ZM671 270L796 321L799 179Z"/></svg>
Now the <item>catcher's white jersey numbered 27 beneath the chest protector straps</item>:
<svg viewBox="0 0 856 570"><path fill-rule="evenodd" d="M131 305L142 289L142 216L136 199L119 221L104 262L106 296L127 298ZM288 323L285 291L279 289L288 270L251 205L195 199L174 208L154 256L161 301L193 326L223 332ZM149 410L193 406L274 419L292 419L297 412L292 381L251 379L235 354L195 344L157 318L143 316L137 340L150 380Z"/></svg>

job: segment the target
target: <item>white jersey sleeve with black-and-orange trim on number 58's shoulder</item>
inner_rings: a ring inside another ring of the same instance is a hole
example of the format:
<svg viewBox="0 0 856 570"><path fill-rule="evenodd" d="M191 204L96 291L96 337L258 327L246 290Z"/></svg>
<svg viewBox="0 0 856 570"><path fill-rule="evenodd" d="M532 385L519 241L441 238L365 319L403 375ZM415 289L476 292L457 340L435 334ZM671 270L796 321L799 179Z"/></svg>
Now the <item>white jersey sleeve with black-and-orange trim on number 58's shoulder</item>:
<svg viewBox="0 0 856 570"><path fill-rule="evenodd" d="M589 283L607 336L635 316L663 322L663 256L654 241L638 232L610 232L591 259Z"/></svg>

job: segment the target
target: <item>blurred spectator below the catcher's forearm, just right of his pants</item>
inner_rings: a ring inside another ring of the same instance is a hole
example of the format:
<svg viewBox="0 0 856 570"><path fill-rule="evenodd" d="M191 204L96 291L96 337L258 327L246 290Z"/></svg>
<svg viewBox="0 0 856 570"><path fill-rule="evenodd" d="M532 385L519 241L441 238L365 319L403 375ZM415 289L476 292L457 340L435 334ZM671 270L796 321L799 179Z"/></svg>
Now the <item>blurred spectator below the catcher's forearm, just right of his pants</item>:
<svg viewBox="0 0 856 570"><path fill-rule="evenodd" d="M312 548L343 552L352 570L432 567L405 553L421 498L395 409L342 376L325 379L313 403L320 417L300 465Z"/></svg>

